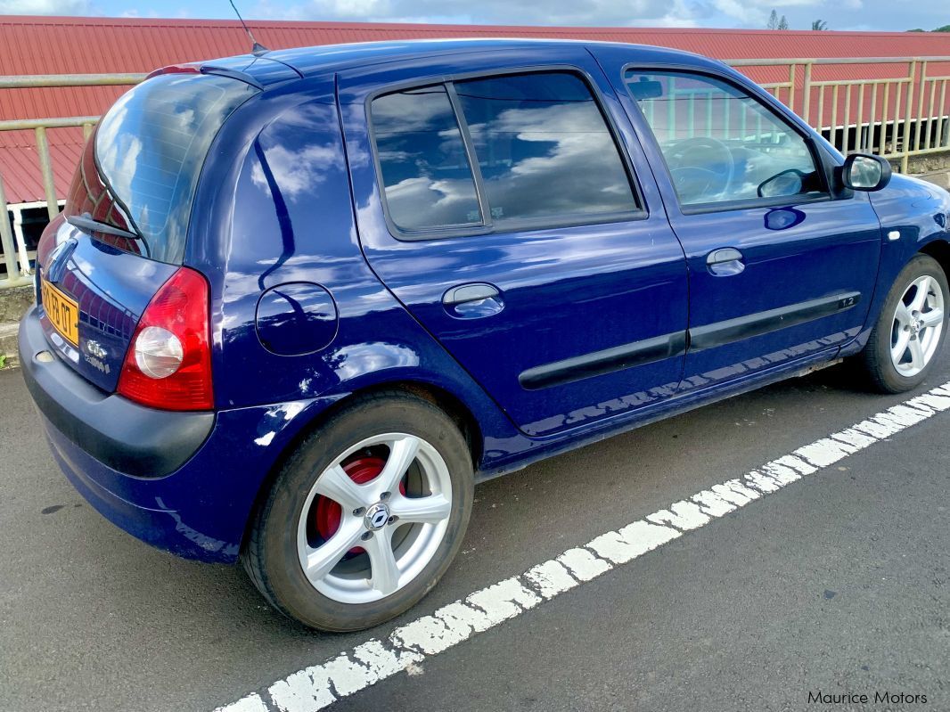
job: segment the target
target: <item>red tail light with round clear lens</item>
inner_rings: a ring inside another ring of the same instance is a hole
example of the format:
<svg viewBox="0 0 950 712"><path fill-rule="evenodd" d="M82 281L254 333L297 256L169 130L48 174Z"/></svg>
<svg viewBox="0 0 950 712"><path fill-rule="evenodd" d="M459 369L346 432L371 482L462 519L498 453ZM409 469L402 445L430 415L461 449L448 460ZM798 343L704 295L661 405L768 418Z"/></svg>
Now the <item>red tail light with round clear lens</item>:
<svg viewBox="0 0 950 712"><path fill-rule="evenodd" d="M208 283L181 267L152 297L132 336L117 391L163 410L211 410Z"/></svg>

